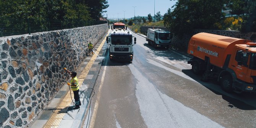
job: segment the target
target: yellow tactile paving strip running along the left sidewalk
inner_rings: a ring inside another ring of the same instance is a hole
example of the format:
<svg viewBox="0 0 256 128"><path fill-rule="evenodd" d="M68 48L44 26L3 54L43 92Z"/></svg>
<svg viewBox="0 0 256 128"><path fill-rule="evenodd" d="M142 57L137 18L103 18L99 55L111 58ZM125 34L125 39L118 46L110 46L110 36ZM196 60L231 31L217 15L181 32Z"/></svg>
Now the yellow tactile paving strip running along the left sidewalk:
<svg viewBox="0 0 256 128"><path fill-rule="evenodd" d="M110 30L107 33L107 36L109 35ZM87 63L86 67L82 71L82 73L78 76L78 83L79 86L83 84L84 79L86 78L87 74L89 73L93 63L95 62L97 55L99 54L98 51L102 49L102 46L104 45L104 42L106 41L106 37L101 42L100 46L98 47L96 54L92 55L91 60ZM74 97L73 91L71 91L71 96ZM72 100L70 98L70 93L67 93L60 105L57 107L57 109L54 111L53 115L49 118L49 120L45 123L44 128L57 128L60 124L62 118L64 117L65 113L68 110L68 107L70 106Z"/></svg>

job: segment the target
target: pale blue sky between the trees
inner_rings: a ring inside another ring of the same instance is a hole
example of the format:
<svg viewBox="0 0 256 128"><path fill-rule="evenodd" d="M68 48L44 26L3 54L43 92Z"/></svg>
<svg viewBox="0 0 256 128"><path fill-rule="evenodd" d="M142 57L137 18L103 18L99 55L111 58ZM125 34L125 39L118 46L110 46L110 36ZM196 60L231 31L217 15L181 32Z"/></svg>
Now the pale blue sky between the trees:
<svg viewBox="0 0 256 128"><path fill-rule="evenodd" d="M109 7L102 13L104 17L109 19L119 18L126 19L135 16L147 16L149 13L151 16L154 16L154 5L155 5L155 14L160 11L161 15L164 15L168 8L172 9L172 6L175 5L177 0L107 0ZM155 4L154 4L155 1ZM136 6L135 8L133 6ZM124 12L125 11L125 12Z"/></svg>

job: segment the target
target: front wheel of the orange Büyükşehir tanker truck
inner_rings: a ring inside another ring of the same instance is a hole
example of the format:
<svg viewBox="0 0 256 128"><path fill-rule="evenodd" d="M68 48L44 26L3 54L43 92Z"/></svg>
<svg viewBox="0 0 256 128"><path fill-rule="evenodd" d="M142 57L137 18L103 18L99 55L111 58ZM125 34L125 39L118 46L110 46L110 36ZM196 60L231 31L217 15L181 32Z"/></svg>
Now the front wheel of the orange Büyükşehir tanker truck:
<svg viewBox="0 0 256 128"><path fill-rule="evenodd" d="M226 92L232 92L232 84L233 84L233 80L232 77L230 75L225 75L222 77L221 79L221 88L226 91Z"/></svg>

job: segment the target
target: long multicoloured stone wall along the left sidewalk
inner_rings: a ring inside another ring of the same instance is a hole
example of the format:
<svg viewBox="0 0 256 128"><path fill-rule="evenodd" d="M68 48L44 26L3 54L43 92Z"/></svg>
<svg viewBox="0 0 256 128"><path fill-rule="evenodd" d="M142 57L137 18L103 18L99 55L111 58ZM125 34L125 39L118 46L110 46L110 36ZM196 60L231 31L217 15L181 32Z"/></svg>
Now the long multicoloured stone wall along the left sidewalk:
<svg viewBox="0 0 256 128"><path fill-rule="evenodd" d="M0 127L24 128L64 85L63 66L71 71L86 58L107 24L0 38Z"/></svg>

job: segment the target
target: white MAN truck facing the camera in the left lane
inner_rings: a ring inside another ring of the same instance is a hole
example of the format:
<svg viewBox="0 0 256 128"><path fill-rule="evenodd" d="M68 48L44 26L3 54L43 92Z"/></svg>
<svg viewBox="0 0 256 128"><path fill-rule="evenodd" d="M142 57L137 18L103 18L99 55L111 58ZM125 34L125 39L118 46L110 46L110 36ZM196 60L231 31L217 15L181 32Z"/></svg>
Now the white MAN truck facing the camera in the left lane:
<svg viewBox="0 0 256 128"><path fill-rule="evenodd" d="M133 61L133 45L136 44L136 37L129 31L114 29L107 37L109 43L109 58L117 61Z"/></svg>

